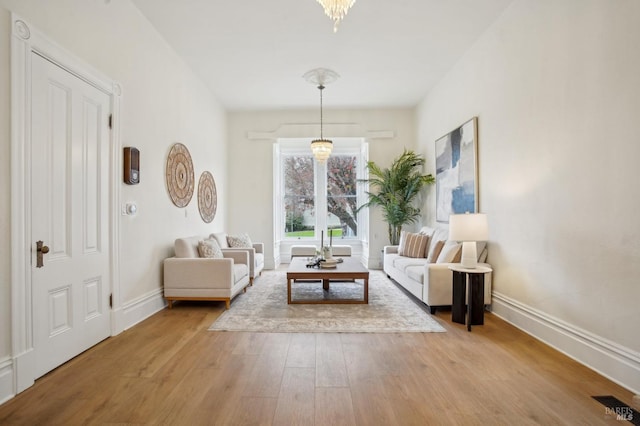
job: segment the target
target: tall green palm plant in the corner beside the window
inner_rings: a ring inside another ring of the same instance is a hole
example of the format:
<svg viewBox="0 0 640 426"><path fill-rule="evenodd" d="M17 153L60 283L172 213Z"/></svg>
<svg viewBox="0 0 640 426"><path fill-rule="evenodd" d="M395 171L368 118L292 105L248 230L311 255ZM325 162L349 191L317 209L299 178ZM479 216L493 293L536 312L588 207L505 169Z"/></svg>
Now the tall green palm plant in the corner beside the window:
<svg viewBox="0 0 640 426"><path fill-rule="evenodd" d="M360 181L368 183L372 191L366 192L369 201L358 207L358 211L365 207L382 208L384 220L389 225L391 245L400 242L403 225L418 220L420 208L414 205L414 200L422 188L435 182L431 174L422 174L424 163L422 156L407 149L388 169L380 168L373 161L367 162L369 179Z"/></svg>

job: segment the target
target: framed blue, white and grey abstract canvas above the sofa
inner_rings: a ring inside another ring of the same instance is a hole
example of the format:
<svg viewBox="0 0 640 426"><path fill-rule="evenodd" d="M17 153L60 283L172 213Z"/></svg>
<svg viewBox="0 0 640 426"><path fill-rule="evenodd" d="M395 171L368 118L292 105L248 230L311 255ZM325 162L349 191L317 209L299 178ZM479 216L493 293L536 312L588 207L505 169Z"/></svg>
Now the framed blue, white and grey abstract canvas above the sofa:
<svg viewBox="0 0 640 426"><path fill-rule="evenodd" d="M436 140L436 221L478 211L478 119Z"/></svg>

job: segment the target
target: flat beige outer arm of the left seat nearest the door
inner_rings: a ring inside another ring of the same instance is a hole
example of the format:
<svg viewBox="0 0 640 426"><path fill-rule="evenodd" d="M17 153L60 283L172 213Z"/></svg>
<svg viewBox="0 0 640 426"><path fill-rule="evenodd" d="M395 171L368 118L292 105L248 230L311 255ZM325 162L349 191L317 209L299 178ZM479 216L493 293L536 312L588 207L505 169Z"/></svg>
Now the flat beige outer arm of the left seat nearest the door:
<svg viewBox="0 0 640 426"><path fill-rule="evenodd" d="M233 283L234 259L177 258L164 260L165 288L218 288Z"/></svg>

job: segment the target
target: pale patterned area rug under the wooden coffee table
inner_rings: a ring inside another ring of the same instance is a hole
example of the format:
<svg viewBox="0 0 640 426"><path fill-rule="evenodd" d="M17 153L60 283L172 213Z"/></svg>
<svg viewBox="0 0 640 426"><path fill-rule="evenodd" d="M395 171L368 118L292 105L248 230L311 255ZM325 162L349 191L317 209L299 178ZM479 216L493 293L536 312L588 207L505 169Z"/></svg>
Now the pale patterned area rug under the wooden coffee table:
<svg viewBox="0 0 640 426"><path fill-rule="evenodd" d="M295 282L292 298L362 299L362 283L331 282L329 292L320 282ZM263 271L246 293L209 330L274 333L392 333L446 331L417 302L391 282L384 272L369 274L368 304L287 304L285 270Z"/></svg>

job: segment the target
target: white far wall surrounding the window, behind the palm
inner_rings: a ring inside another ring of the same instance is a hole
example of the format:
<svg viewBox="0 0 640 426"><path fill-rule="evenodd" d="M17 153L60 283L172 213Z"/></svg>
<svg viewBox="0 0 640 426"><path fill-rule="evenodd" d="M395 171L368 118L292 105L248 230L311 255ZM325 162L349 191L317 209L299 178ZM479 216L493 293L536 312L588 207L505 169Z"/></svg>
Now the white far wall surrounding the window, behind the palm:
<svg viewBox="0 0 640 426"><path fill-rule="evenodd" d="M248 232L252 240L265 243L265 267L274 265L273 238L273 144L277 137L319 137L317 110L232 112L228 115L229 232ZM369 159L387 167L406 147L415 146L413 109L324 110L325 137L367 137ZM309 125L311 123L311 125ZM315 123L315 124L314 124ZM375 138L376 131L390 131L391 138ZM254 139L255 135L264 135ZM426 153L425 153L426 154ZM431 153L429 153L431 154ZM371 215L368 257L378 267L383 246L389 244L379 209Z"/></svg>

